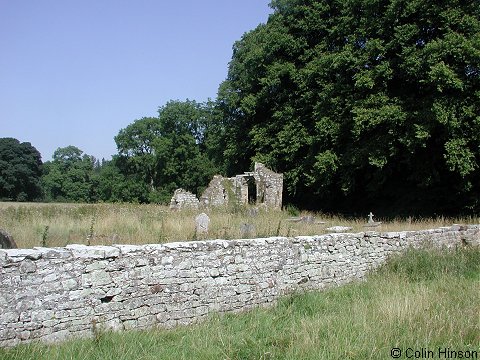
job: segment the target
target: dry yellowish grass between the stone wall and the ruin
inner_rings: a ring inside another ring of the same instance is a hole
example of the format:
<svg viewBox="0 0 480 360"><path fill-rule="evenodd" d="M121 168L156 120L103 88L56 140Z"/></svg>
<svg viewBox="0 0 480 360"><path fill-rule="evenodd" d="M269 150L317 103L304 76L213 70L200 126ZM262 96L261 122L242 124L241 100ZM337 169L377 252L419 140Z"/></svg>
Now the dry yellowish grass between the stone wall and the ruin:
<svg viewBox="0 0 480 360"><path fill-rule="evenodd" d="M201 211L172 212L166 206L135 204L29 204L0 203L0 228L9 232L18 247L65 246L67 244L148 244L195 240L195 216ZM266 236L324 234L334 226L349 226L353 232L400 231L476 223L479 218L396 219L376 228L364 228L363 219L298 211L215 209L208 211L210 229L206 238L239 239ZM295 216L314 216L313 223L292 222ZM382 219L375 219L381 221ZM243 224L250 225L250 231Z"/></svg>

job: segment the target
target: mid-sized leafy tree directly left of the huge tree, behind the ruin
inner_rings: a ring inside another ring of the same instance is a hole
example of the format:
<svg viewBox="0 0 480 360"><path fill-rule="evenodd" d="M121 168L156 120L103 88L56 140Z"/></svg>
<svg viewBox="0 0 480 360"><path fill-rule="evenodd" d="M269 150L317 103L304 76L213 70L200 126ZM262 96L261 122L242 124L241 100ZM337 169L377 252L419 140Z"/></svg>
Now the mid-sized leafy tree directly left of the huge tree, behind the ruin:
<svg viewBox="0 0 480 360"><path fill-rule="evenodd" d="M114 163L131 184L142 184L140 201L166 203L182 187L199 193L214 173L206 129L212 109L195 101L170 101L158 117L142 118L115 137Z"/></svg>

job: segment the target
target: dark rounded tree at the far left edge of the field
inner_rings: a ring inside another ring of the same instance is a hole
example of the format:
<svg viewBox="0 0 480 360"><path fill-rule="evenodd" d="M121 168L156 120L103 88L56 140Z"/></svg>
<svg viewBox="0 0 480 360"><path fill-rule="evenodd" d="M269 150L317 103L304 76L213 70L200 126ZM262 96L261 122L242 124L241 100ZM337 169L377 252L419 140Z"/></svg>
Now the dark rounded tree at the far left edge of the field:
<svg viewBox="0 0 480 360"><path fill-rule="evenodd" d="M30 143L0 138L0 198L38 200L42 196L40 153Z"/></svg>

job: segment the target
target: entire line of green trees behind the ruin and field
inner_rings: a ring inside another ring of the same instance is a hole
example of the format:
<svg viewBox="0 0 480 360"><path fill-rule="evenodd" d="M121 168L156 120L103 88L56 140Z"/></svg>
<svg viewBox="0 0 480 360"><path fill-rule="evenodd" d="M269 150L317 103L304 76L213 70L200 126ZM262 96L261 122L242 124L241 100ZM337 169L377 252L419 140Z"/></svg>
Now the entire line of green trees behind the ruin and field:
<svg viewBox="0 0 480 360"><path fill-rule="evenodd" d="M159 202L265 163L286 203L354 214L480 211L475 1L273 0L207 103L170 101L99 162L0 142L0 198Z"/></svg>

